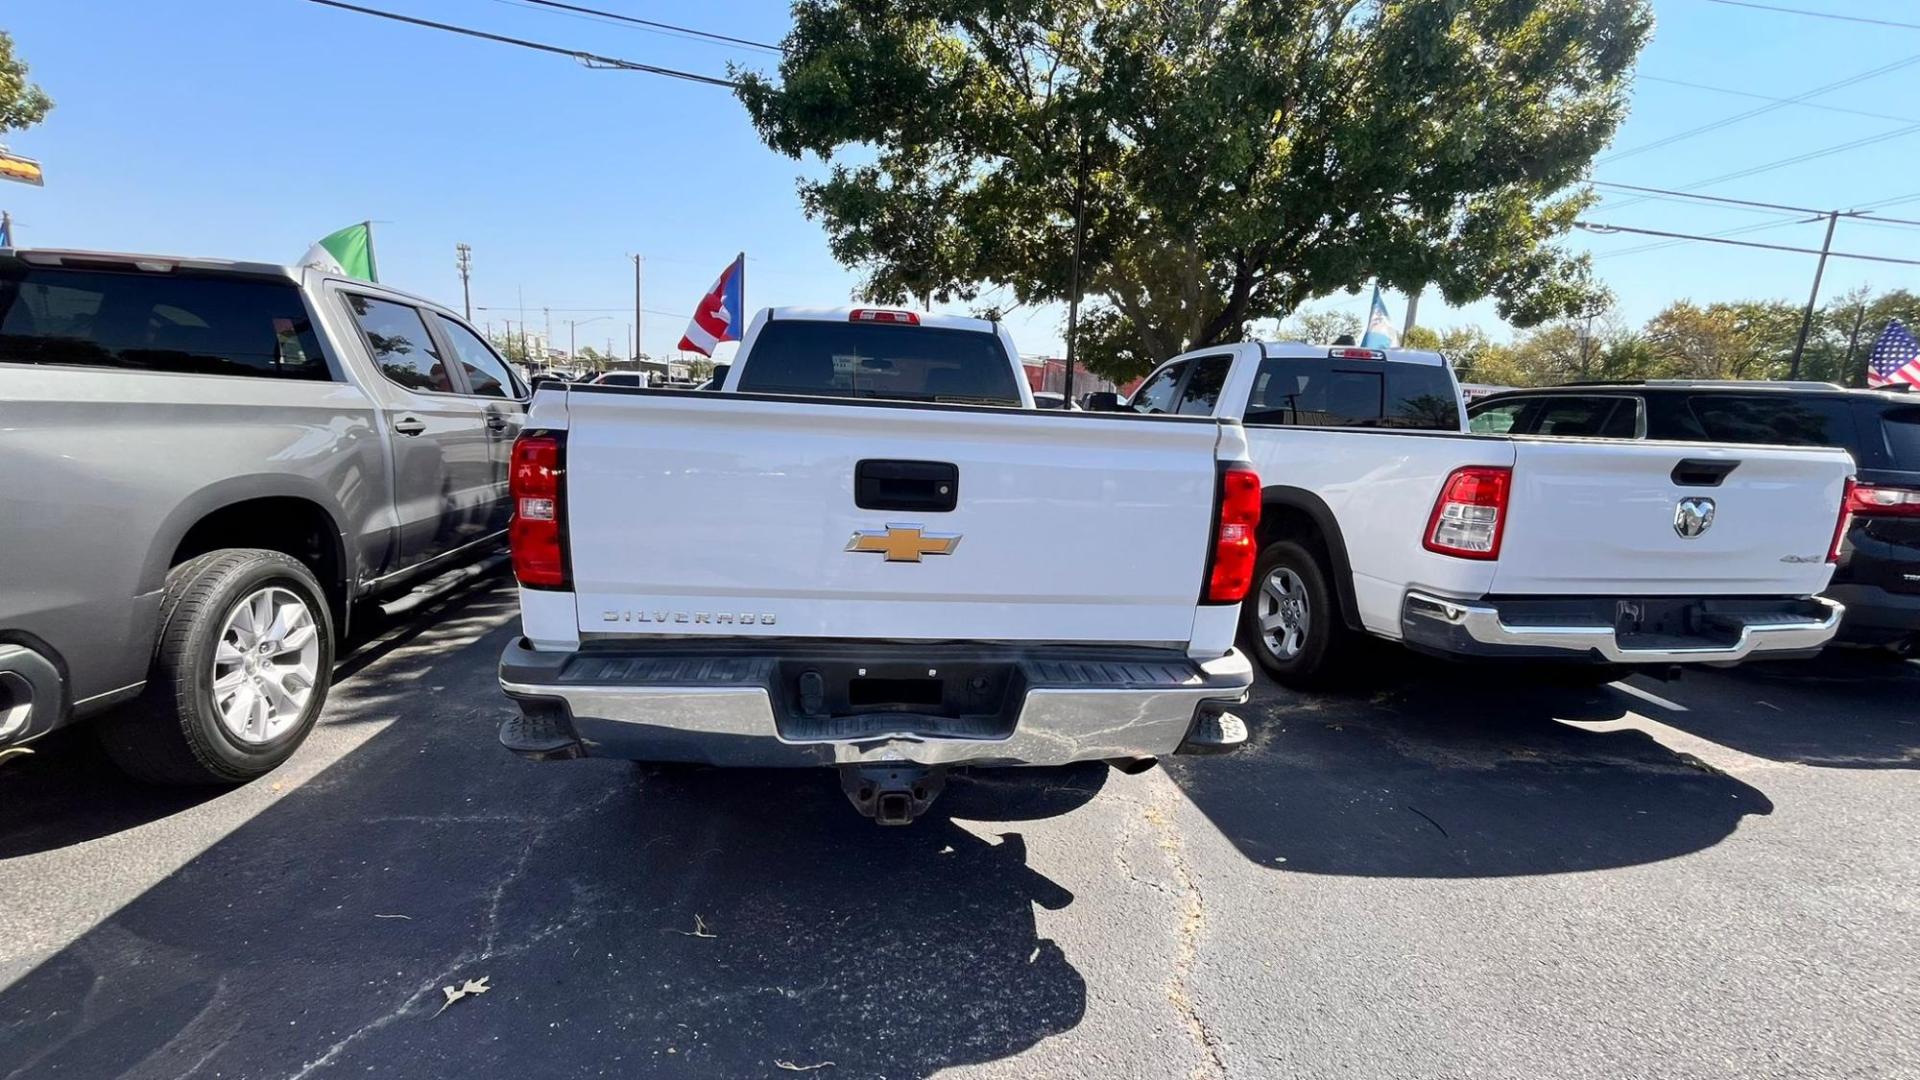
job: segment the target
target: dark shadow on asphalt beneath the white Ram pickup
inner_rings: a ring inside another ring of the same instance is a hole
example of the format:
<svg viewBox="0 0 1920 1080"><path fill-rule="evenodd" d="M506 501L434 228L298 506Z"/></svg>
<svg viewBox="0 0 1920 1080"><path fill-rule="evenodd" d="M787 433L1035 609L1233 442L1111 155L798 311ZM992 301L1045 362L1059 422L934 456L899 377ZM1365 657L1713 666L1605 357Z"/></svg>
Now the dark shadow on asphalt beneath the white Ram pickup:
<svg viewBox="0 0 1920 1080"><path fill-rule="evenodd" d="M1309 874L1630 867L1772 813L1757 788L1645 732L1580 726L1632 705L1611 688L1382 655L1365 690L1304 696L1260 678L1248 748L1173 759L1169 773L1250 861Z"/></svg>

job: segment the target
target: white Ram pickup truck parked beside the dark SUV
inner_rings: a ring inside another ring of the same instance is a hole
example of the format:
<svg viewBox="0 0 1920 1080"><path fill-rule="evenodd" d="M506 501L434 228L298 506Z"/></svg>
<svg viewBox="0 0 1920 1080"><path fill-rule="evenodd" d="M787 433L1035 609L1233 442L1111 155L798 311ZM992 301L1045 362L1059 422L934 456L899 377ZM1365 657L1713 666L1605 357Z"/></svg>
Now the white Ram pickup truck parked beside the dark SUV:
<svg viewBox="0 0 1920 1080"><path fill-rule="evenodd" d="M1816 594L1843 452L1467 434L1440 354L1300 342L1179 356L1117 407L1242 423L1265 484L1242 640L1286 684L1357 634L1605 680L1807 655L1839 626Z"/></svg>

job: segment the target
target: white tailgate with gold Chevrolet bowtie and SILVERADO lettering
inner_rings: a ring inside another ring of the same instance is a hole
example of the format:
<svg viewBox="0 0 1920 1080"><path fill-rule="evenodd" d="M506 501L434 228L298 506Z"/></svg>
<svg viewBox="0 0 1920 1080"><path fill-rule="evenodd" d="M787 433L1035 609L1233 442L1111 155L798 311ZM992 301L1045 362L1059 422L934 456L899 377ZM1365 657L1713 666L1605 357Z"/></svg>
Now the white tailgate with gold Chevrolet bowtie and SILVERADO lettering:
<svg viewBox="0 0 1920 1080"><path fill-rule="evenodd" d="M580 630L1185 646L1217 434L1208 419L574 388Z"/></svg>

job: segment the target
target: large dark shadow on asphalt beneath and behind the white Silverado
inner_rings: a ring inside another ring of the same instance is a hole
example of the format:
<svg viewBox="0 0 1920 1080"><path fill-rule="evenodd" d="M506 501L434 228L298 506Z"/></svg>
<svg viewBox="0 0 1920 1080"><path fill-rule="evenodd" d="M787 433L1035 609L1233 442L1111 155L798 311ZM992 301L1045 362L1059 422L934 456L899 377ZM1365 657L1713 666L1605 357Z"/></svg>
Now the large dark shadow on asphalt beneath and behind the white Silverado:
<svg viewBox="0 0 1920 1080"><path fill-rule="evenodd" d="M532 765L495 744L511 632L342 688L330 723L396 723L0 992L0 1074L906 1078L1081 1022L1035 922L1073 896L998 822L1104 767L881 828L828 771Z"/></svg>

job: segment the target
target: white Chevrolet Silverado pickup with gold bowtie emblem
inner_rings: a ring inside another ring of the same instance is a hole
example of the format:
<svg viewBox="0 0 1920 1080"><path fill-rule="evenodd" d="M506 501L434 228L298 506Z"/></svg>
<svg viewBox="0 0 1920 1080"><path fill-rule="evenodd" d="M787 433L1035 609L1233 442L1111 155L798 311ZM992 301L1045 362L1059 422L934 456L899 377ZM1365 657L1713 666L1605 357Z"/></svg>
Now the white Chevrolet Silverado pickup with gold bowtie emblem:
<svg viewBox="0 0 1920 1080"><path fill-rule="evenodd" d="M979 319L783 307L718 390L538 390L501 742L831 765L887 824L956 765L1244 742L1240 425L1033 409L1018 357Z"/></svg>

